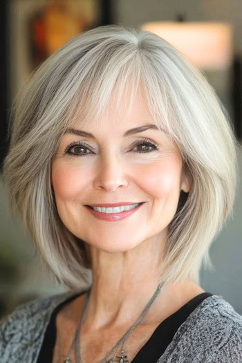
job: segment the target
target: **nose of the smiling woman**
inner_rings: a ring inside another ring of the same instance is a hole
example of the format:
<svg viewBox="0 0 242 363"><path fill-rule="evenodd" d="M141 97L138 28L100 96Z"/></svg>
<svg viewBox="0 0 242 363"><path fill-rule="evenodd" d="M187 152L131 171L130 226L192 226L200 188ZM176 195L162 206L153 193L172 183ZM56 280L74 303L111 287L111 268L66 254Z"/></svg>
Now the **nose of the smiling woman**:
<svg viewBox="0 0 242 363"><path fill-rule="evenodd" d="M100 158L95 174L94 187L109 192L118 187L126 187L128 185L127 170L124 160L120 160L118 156L109 155Z"/></svg>

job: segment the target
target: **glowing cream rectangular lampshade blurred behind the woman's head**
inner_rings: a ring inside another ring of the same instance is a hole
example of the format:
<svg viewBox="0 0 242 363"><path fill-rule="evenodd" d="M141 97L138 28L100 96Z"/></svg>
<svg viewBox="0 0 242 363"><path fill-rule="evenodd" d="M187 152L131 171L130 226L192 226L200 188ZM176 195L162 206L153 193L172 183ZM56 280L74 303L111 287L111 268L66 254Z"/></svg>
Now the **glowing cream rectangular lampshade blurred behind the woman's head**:
<svg viewBox="0 0 242 363"><path fill-rule="evenodd" d="M199 68L223 70L232 62L230 24L161 21L141 28L168 41Z"/></svg>

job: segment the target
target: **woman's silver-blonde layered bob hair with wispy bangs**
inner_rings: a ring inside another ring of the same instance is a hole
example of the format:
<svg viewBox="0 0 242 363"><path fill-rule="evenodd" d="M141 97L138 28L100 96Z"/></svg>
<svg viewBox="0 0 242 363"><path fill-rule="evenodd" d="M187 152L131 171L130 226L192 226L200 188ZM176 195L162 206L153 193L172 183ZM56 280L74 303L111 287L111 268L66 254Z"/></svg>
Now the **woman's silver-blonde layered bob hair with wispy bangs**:
<svg viewBox="0 0 242 363"><path fill-rule="evenodd" d="M169 225L160 266L164 286L187 279L199 283L203 263L213 267L212 240L232 211L236 141L204 75L151 32L118 25L84 32L41 64L17 96L3 167L12 210L57 281L71 290L83 286L91 265L85 242L57 213L51 163L66 129L77 119L102 117L114 90L117 115L126 116L127 85L125 113L142 86L153 121L175 140L192 184Z"/></svg>

